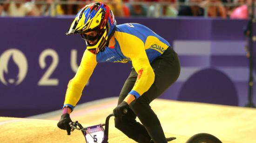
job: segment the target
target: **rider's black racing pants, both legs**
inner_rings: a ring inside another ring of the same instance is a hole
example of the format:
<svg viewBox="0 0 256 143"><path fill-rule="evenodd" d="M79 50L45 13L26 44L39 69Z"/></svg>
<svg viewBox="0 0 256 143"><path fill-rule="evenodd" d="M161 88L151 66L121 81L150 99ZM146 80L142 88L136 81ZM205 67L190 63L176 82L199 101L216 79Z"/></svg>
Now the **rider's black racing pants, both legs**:
<svg viewBox="0 0 256 143"><path fill-rule="evenodd" d="M171 48L155 58L150 64L155 72L155 81L141 97L129 105L128 113L122 118L115 118L115 127L121 130L129 138L138 143L167 143L161 123L150 107L151 101L159 97L180 74L180 62L177 53ZM122 87L118 104L120 104L132 90L138 74L132 67L132 71ZM136 122L138 117L141 123Z"/></svg>

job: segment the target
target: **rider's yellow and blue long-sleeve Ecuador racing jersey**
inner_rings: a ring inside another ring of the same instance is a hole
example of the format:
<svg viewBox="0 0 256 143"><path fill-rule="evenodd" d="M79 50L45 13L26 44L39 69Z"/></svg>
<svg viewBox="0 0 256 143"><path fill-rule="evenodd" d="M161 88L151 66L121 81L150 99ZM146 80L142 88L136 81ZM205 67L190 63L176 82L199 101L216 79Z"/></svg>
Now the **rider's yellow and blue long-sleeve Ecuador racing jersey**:
<svg viewBox="0 0 256 143"><path fill-rule="evenodd" d="M148 27L135 23L117 25L114 37L115 47L106 46L103 52L96 55L85 50L81 64L67 86L63 107L74 108L99 62L132 62L138 76L129 94L138 98L148 91L155 79L150 63L162 55L170 44Z"/></svg>

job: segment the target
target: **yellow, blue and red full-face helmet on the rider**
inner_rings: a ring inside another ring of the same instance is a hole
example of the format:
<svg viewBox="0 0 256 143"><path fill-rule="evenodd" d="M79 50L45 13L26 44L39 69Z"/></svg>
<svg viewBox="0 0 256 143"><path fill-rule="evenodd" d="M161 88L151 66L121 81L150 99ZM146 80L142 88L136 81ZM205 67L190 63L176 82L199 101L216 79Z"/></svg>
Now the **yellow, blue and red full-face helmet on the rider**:
<svg viewBox="0 0 256 143"><path fill-rule="evenodd" d="M116 28L115 16L109 7L101 2L92 3L81 8L66 34L78 33L85 40L88 51L97 54L107 45ZM97 31L95 37L85 32ZM98 39L93 45L89 40Z"/></svg>

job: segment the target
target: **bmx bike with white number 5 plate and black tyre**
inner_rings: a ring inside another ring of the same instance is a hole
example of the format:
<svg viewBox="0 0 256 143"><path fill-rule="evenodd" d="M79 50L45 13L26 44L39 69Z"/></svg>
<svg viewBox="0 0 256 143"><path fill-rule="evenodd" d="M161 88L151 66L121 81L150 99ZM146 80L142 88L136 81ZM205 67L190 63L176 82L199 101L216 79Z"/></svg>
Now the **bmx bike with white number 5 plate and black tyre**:
<svg viewBox="0 0 256 143"><path fill-rule="evenodd" d="M81 130L85 137L86 143L108 143L108 128L109 128L109 118L114 116L114 114L109 114L106 117L105 123L97 124L94 126L89 126L84 128L78 121L70 122L71 131ZM103 127L105 126L105 128ZM168 137L167 142L176 139L176 137ZM152 141L153 143L153 141ZM208 133L199 133L191 136L186 143L222 143L216 136Z"/></svg>

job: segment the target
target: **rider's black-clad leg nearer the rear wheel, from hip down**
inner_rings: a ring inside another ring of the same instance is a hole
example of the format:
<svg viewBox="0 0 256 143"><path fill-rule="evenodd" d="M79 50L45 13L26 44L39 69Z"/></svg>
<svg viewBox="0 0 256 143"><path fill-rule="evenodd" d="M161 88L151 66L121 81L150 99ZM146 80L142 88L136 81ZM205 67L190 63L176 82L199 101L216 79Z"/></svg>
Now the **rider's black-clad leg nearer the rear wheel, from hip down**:
<svg viewBox="0 0 256 143"><path fill-rule="evenodd" d="M151 66L155 72L154 83L148 91L132 102L129 107L145 126L154 143L167 143L161 123L149 104L179 77L179 58L171 48L168 48L162 56L156 58L151 63Z"/></svg>

